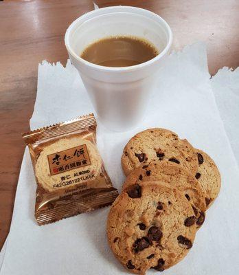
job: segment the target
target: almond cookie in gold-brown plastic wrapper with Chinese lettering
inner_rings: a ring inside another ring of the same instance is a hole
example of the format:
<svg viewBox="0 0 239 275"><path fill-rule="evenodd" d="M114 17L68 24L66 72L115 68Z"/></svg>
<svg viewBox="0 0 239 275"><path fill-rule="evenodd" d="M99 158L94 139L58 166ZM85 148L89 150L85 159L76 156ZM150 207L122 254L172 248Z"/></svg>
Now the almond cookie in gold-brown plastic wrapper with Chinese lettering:
<svg viewBox="0 0 239 275"><path fill-rule="evenodd" d="M36 177L38 225L108 206L118 195L96 146L93 114L23 134Z"/></svg>

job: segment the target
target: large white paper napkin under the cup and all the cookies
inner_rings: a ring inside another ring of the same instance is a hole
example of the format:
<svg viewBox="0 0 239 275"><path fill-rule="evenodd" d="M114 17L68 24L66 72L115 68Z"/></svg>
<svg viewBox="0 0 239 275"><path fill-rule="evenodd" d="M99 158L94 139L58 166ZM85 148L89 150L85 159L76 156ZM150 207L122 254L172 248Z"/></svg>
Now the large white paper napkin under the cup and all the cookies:
<svg viewBox="0 0 239 275"><path fill-rule="evenodd" d="M39 65L38 92L31 128L93 111L76 69L70 63ZM141 125L115 133L98 124L98 146L113 184L121 188L120 157L128 139L159 126L186 137L211 155L222 175L217 201L207 211L188 256L163 274L238 274L239 171L209 84L205 45L198 43L172 54L159 73L159 85ZM109 208L39 227L34 221L36 185L26 149L14 204L1 275L127 274L106 242Z"/></svg>

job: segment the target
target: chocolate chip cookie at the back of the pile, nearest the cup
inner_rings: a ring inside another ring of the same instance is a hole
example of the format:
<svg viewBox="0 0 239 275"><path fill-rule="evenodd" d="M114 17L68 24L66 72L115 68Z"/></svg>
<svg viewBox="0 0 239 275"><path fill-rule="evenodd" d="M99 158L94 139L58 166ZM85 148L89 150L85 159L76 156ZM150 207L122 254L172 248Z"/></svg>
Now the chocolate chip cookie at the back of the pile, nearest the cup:
<svg viewBox="0 0 239 275"><path fill-rule="evenodd" d="M176 133L169 130L154 128L137 133L124 147L124 174L128 175L138 166L155 160L180 164L193 174L198 170L194 148L187 140L180 140Z"/></svg>

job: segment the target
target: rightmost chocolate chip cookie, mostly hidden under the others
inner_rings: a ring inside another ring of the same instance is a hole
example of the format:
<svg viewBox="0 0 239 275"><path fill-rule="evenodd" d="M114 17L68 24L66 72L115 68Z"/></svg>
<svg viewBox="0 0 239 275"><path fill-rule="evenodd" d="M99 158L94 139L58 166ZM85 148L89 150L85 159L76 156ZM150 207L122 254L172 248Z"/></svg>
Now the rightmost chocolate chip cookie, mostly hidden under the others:
<svg viewBox="0 0 239 275"><path fill-rule="evenodd" d="M205 202L208 209L212 206L216 197L218 197L220 191L220 173L209 155L198 149L195 149L195 151L199 165L195 177L205 192Z"/></svg>

